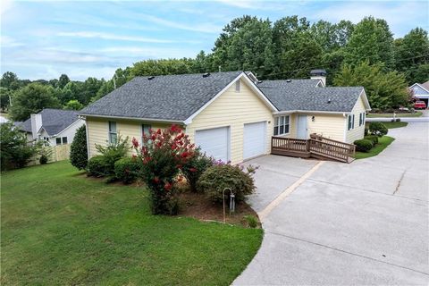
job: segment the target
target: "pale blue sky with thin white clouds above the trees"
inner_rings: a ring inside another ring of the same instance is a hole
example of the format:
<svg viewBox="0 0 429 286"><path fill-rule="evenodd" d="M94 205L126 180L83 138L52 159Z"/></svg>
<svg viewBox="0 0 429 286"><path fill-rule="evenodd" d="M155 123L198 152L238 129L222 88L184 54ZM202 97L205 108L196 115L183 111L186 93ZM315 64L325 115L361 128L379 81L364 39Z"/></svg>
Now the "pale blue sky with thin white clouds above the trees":
<svg viewBox="0 0 429 286"><path fill-rule="evenodd" d="M244 14L298 15L314 22L365 16L388 21L394 38L429 29L428 1L11 1L1 0L1 69L20 79L111 79L145 59L209 53L223 27Z"/></svg>

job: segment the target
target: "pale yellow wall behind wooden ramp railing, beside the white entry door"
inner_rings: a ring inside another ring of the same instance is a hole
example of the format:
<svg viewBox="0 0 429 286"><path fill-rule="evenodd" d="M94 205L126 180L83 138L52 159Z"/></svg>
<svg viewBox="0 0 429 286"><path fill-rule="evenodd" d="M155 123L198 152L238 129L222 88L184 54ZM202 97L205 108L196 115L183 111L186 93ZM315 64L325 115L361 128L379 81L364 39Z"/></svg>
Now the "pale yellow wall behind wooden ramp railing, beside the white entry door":
<svg viewBox="0 0 429 286"><path fill-rule="evenodd" d="M315 116L313 122L312 117ZM294 129L297 130L297 124ZM316 133L325 138L344 141L345 118L342 114L307 114L307 135Z"/></svg>

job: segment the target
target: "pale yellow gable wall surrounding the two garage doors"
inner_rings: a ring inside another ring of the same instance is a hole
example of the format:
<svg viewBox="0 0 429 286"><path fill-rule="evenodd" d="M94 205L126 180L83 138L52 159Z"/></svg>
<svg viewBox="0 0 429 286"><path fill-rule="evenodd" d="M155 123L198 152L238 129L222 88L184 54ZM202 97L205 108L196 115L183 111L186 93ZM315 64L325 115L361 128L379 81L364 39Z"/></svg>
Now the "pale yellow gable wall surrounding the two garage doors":
<svg viewBox="0 0 429 286"><path fill-rule="evenodd" d="M241 80L240 92L235 91L235 84L205 110L198 114L186 127L189 139L194 140L196 130L206 130L230 126L231 163L243 161L244 124L266 122L265 153L270 153L273 135L273 114L254 92Z"/></svg>

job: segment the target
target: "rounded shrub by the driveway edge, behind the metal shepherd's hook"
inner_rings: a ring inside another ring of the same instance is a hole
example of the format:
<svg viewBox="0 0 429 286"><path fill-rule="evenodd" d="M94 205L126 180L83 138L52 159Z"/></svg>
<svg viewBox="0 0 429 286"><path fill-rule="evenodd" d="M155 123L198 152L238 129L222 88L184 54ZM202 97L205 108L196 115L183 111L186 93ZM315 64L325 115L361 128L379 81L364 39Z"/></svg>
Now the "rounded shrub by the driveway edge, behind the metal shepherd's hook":
<svg viewBox="0 0 429 286"><path fill-rule="evenodd" d="M248 167L248 172L243 171L242 166L231 164L218 164L209 167L203 172L198 180L198 189L206 192L208 196L217 203L223 202L223 189L230 188L235 195L236 202L240 203L247 195L256 189L251 174L255 172L252 166ZM229 191L225 194L228 195Z"/></svg>

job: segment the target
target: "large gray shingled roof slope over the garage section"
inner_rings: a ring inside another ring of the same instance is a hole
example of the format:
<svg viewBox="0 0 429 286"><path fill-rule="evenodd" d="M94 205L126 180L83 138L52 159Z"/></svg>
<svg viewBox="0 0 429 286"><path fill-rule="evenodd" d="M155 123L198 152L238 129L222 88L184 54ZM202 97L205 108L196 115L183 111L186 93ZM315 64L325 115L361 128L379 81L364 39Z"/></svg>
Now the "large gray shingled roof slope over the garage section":
<svg viewBox="0 0 429 286"><path fill-rule="evenodd" d="M80 114L185 121L242 71L136 77Z"/></svg>

